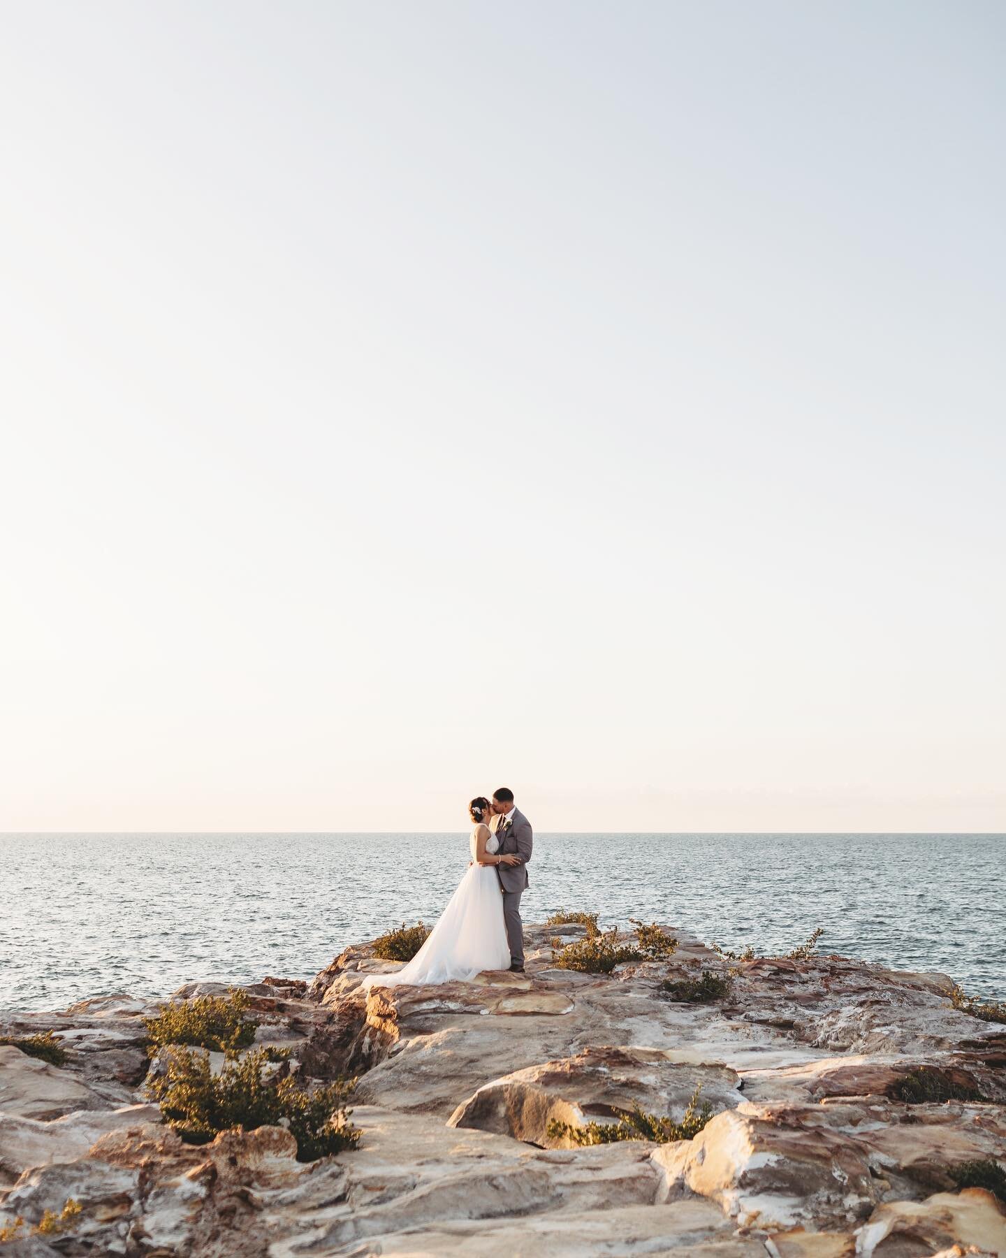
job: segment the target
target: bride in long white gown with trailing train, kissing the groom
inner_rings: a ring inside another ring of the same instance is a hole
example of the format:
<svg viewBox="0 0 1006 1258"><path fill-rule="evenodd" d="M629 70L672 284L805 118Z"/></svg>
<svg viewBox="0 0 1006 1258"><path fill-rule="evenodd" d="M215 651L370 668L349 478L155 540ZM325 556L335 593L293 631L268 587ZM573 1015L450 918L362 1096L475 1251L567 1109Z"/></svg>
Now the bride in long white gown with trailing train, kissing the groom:
<svg viewBox="0 0 1006 1258"><path fill-rule="evenodd" d="M519 864L521 858L497 855L499 840L487 825L492 810L484 795L468 805L474 821L469 839L472 864L426 942L401 970L368 975L362 986L468 981L483 970L509 969L511 949L495 866Z"/></svg>

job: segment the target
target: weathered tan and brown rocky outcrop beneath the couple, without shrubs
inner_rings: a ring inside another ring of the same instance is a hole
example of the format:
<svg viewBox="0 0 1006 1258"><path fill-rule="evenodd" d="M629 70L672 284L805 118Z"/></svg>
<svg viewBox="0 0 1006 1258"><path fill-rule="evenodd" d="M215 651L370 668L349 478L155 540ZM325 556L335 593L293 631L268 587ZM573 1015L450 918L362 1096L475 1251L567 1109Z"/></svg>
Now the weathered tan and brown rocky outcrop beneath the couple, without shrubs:
<svg viewBox="0 0 1006 1258"><path fill-rule="evenodd" d="M289 1069L358 1076L360 1147L311 1164L282 1127L194 1146L161 1123L153 1001L0 1015L1 1035L53 1030L68 1054L0 1047L0 1228L80 1204L0 1258L1006 1255L1006 1208L954 1176L1006 1170L1006 1027L956 1010L944 975L837 956L733 962L726 996L674 1001L664 980L728 962L673 932L669 961L610 975L555 969L555 928L529 926L523 975L366 991L396 966L362 944L309 985L248 986L257 1043ZM699 1084L713 1117L693 1140L550 1135L635 1103L680 1120ZM899 1099L920 1092L982 1099Z"/></svg>

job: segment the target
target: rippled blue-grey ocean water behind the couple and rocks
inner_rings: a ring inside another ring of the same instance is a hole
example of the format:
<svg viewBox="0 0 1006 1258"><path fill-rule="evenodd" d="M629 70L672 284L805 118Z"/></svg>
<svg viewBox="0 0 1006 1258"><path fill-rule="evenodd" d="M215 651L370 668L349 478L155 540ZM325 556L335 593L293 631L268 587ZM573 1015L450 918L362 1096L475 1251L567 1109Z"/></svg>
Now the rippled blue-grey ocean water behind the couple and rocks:
<svg viewBox="0 0 1006 1258"><path fill-rule="evenodd" d="M351 942L433 922L465 834L0 835L0 1008L195 979L309 979ZM1006 835L538 834L524 921L596 910L728 947L941 970L1006 998Z"/></svg>

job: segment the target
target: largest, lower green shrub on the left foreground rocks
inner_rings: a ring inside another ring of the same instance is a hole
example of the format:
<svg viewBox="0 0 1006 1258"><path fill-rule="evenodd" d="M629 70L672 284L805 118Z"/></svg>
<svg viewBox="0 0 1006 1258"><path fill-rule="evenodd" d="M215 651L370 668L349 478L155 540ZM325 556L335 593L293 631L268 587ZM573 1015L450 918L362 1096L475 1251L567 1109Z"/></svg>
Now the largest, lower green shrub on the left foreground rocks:
<svg viewBox="0 0 1006 1258"><path fill-rule="evenodd" d="M182 1048L170 1055L166 1074L148 1088L165 1122L192 1145L233 1127L268 1126L292 1132L301 1162L356 1147L360 1132L346 1108L356 1079L338 1079L312 1092L290 1076L277 1082L268 1064L267 1050L257 1048L213 1074L207 1054Z"/></svg>

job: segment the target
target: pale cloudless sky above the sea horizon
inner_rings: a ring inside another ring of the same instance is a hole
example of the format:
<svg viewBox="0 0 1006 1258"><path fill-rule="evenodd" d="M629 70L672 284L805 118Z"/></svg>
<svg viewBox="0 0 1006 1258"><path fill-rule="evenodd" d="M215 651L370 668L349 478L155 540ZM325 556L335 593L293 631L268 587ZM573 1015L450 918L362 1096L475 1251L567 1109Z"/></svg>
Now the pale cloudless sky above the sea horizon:
<svg viewBox="0 0 1006 1258"><path fill-rule="evenodd" d="M1006 830L1003 58L5 4L0 829Z"/></svg>

